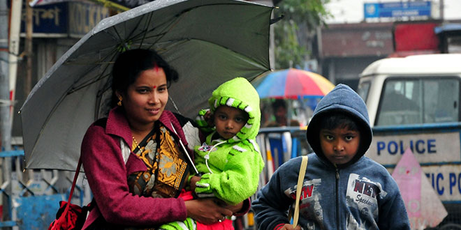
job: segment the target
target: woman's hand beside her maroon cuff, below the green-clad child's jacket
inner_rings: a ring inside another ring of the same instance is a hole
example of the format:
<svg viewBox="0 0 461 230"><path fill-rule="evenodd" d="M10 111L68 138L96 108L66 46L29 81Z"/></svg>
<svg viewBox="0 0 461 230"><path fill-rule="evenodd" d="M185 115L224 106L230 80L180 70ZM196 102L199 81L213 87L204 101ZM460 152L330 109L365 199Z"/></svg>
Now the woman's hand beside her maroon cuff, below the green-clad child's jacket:
<svg viewBox="0 0 461 230"><path fill-rule="evenodd" d="M193 199L185 201L187 217L203 224L213 224L232 215L232 210L214 203L213 199Z"/></svg>

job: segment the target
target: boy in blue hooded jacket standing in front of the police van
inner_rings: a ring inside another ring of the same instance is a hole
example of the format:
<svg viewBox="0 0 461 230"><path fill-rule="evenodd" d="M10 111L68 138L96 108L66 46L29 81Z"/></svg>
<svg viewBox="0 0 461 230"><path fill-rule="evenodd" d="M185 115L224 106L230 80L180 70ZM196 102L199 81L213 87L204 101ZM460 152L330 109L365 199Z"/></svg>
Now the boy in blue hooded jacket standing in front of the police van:
<svg viewBox="0 0 461 230"><path fill-rule="evenodd" d="M397 183L365 157L372 141L367 107L338 84L317 105L307 128L308 155L299 225L288 224L295 203L301 157L275 171L252 207L258 229L410 229Z"/></svg>

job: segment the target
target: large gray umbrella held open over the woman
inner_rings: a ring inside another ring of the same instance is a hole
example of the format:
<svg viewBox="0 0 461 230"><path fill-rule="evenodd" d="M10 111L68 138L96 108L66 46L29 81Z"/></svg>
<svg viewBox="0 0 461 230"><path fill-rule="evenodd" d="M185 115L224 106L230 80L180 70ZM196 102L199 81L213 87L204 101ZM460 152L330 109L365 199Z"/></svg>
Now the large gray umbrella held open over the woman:
<svg viewBox="0 0 461 230"><path fill-rule="evenodd" d="M155 49L180 73L167 109L193 118L233 77L270 70L272 7L236 0L156 0L99 22L22 105L27 169L75 170L88 126L105 116L110 72L124 49Z"/></svg>

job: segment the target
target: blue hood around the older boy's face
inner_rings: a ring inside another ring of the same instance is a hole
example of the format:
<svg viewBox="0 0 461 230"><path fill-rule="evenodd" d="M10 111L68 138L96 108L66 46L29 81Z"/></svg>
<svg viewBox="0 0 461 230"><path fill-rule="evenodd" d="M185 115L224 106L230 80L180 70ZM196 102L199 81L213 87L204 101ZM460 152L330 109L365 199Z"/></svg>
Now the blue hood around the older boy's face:
<svg viewBox="0 0 461 230"><path fill-rule="evenodd" d="M307 141L309 141L316 155L319 155L319 158L323 160L326 160L326 158L323 155L319 141L319 118L331 111L349 114L356 118L356 123L360 129L360 146L356 156L347 165L353 164L365 154L372 143L373 132L369 125L367 106L363 99L360 98L360 95L344 84L338 84L335 89L320 100L307 127Z"/></svg>

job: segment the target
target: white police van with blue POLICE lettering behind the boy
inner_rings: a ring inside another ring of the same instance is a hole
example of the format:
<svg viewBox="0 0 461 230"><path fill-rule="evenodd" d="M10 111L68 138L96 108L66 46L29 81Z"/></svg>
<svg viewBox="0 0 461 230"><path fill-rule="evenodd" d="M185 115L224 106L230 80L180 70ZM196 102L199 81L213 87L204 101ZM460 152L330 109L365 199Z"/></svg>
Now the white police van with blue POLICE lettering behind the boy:
<svg viewBox="0 0 461 230"><path fill-rule="evenodd" d="M374 137L367 156L389 171L411 148L448 210L461 224L461 54L375 61L360 75Z"/></svg>

